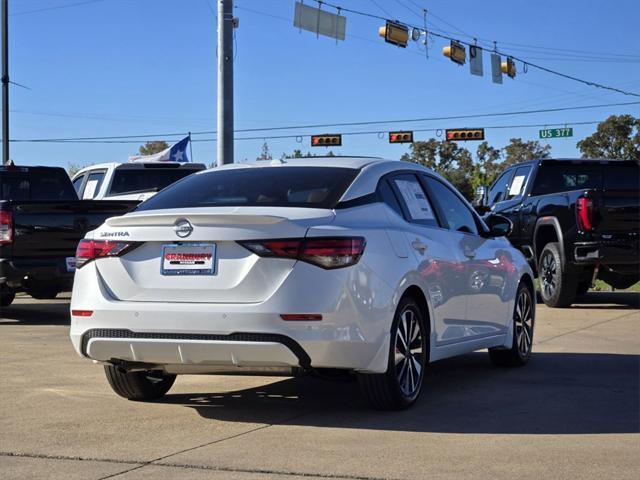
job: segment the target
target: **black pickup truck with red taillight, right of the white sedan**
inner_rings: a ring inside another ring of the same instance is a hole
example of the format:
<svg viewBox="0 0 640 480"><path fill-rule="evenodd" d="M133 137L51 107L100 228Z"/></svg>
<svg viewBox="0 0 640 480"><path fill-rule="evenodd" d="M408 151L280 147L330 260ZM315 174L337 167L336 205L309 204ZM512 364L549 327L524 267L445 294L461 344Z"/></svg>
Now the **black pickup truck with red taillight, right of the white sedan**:
<svg viewBox="0 0 640 480"><path fill-rule="evenodd" d="M640 281L640 162L524 162L478 194L479 211L513 222L509 239L548 306L571 305L596 278L620 289Z"/></svg>

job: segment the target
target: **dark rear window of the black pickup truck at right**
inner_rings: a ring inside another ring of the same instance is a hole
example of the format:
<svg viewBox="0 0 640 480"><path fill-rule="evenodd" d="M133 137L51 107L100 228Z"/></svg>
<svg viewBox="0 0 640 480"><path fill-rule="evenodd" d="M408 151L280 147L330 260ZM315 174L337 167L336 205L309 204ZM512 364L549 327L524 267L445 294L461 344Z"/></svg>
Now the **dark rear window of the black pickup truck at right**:
<svg viewBox="0 0 640 480"><path fill-rule="evenodd" d="M639 172L640 167L633 162L542 164L533 195L603 188L638 190Z"/></svg>

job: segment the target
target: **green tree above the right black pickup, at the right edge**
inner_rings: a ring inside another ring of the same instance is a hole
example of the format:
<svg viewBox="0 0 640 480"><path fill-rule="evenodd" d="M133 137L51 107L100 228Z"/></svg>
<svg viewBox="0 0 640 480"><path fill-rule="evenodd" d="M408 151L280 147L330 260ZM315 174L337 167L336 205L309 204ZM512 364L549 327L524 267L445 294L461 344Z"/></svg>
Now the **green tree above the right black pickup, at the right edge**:
<svg viewBox="0 0 640 480"><path fill-rule="evenodd" d="M598 124L596 132L577 144L582 158L638 160L640 158L640 118L611 115Z"/></svg>

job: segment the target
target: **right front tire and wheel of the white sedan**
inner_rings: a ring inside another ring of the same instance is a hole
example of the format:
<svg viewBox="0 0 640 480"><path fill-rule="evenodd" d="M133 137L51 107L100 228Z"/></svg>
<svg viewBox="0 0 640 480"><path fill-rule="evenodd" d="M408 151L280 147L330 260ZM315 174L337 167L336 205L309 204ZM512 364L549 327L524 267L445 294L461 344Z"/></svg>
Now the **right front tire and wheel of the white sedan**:
<svg viewBox="0 0 640 480"><path fill-rule="evenodd" d="M531 358L535 327L535 296L521 283L513 307L513 341L511 348L490 348L489 358L494 365L521 367Z"/></svg>

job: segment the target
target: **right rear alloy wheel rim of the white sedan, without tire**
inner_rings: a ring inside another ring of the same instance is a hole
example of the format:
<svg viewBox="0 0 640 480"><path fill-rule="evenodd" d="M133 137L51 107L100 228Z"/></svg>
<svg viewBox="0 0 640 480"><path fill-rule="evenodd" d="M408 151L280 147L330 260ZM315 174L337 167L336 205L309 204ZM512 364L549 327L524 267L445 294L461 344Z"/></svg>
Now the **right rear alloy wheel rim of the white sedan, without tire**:
<svg viewBox="0 0 640 480"><path fill-rule="evenodd" d="M400 390L411 398L420 391L424 364L423 332L416 313L407 308L400 314L395 338L395 367Z"/></svg>

